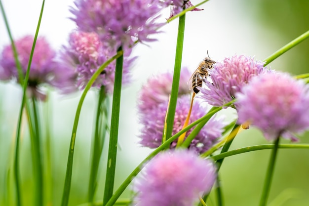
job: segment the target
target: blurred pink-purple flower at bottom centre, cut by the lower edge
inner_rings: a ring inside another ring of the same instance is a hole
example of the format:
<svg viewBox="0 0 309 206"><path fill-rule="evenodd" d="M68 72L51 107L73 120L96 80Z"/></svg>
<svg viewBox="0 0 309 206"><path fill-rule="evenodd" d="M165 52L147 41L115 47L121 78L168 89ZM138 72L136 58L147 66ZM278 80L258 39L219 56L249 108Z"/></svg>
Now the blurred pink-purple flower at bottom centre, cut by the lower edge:
<svg viewBox="0 0 309 206"><path fill-rule="evenodd" d="M192 206L208 193L216 168L208 160L186 150L158 154L134 182L135 206Z"/></svg>

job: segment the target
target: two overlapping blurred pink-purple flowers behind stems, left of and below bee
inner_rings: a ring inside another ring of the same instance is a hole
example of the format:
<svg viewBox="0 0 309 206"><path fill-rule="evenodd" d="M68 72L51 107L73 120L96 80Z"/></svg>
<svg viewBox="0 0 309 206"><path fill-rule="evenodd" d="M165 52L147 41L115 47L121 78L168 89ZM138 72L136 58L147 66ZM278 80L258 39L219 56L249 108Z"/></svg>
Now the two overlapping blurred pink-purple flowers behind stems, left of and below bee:
<svg viewBox="0 0 309 206"><path fill-rule="evenodd" d="M183 93L179 93L177 100L172 135L182 129L189 112L191 95L187 87L188 77L190 77L188 74L190 73L186 68L182 69L179 91ZM141 116L140 122L143 125L140 144L143 146L157 148L161 144L171 82L172 74L160 74L149 79L141 91L138 107ZM189 124L206 113L207 108L196 99L193 103ZM193 139L189 149L197 153L205 152L218 141L224 126L223 119L211 118ZM187 132L187 136L191 131L192 129ZM177 140L170 147L175 148L176 143Z"/></svg>

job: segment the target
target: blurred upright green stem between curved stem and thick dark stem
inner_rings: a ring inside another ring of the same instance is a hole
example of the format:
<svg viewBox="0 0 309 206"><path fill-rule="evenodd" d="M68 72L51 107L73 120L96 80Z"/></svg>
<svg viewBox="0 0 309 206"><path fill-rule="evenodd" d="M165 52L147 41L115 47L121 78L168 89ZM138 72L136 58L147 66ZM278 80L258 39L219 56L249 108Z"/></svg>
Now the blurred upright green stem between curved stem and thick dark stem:
<svg viewBox="0 0 309 206"><path fill-rule="evenodd" d="M97 175L98 168L100 163L100 157L102 154L103 143L105 139L105 128L103 127L103 131L100 132L100 119L106 114L106 109L104 108L106 99L105 86L101 86L99 91L98 98L98 107L96 112L96 120L95 120L95 130L94 130L94 138L92 142L92 159L91 159L91 168L90 168L90 177L89 177L89 186L88 186L88 202L93 204L94 194L97 187ZM101 121L101 124L103 121Z"/></svg>

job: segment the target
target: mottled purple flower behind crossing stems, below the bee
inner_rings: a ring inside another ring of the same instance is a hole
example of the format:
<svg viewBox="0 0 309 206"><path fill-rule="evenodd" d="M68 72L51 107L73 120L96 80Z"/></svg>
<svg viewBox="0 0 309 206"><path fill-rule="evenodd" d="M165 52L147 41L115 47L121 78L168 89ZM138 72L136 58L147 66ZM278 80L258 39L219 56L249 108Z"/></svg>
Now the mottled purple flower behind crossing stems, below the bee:
<svg viewBox="0 0 309 206"><path fill-rule="evenodd" d="M189 95L184 95L178 98L172 135L179 132L185 123L190 108L190 98L191 97ZM142 113L140 110L140 122L143 125L140 135L141 145L149 148L157 148L161 145L167 103L168 100L164 103L157 104L156 107L145 113ZM194 101L189 124L203 117L205 114L206 108L200 105L197 100ZM221 137L222 132L224 131L223 127L225 125L226 124L223 123L222 118L211 118L195 136L189 146L189 149L198 154L207 151L218 141L218 138ZM192 129L187 132L186 136L188 136L191 131ZM170 148L175 148L176 143L177 139L171 144Z"/></svg>

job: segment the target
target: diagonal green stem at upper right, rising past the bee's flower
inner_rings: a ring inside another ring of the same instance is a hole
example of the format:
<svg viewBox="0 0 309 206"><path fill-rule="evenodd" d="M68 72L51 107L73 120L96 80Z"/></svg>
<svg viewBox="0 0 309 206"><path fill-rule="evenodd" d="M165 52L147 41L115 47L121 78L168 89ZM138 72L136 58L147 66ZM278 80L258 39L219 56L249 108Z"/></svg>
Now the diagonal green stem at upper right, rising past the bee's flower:
<svg viewBox="0 0 309 206"><path fill-rule="evenodd" d="M264 60L264 62L266 62L264 64L264 66L268 65L270 62L275 60L277 57L279 57L280 55L282 55L283 53L285 53L289 49L293 48L294 46L296 46L300 42L306 40L307 38L309 38L309 31L305 32L304 34L302 34L301 36L299 36L295 40L293 40L293 41L289 42L288 44L284 45L283 47L279 48L277 51L275 51L273 54L271 54L269 57L267 57Z"/></svg>

